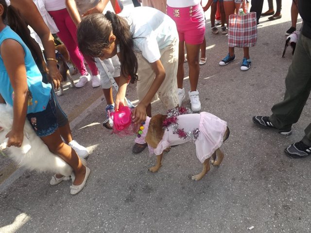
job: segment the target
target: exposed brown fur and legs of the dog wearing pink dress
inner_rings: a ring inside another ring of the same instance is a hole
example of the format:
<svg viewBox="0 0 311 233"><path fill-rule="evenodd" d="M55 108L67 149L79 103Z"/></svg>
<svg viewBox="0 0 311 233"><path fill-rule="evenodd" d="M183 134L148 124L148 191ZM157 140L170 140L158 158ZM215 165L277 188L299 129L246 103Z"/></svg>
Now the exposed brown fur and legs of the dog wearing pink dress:
<svg viewBox="0 0 311 233"><path fill-rule="evenodd" d="M148 132L147 132L147 135L145 137L145 141L147 142L148 146L150 146L152 148L157 148L157 146L158 146L159 142L162 140L164 132L165 132L165 130L163 129L163 121L166 118L167 118L166 115L160 115L160 114L151 117L149 127L148 127ZM223 142L225 142L225 140L229 137L229 134L230 134L229 128L226 127L225 133L223 135ZM186 142L186 141L184 141L184 142ZM171 147L168 147L165 151L169 151L170 149L171 149ZM217 160L216 160L216 156L217 156ZM155 166L150 167L149 171L156 172L159 170L160 166L162 166L162 163L161 163L162 157L163 157L163 152L160 155L156 156L156 164L155 164ZM223 161L224 153L220 150L220 148L218 148L211 155L211 157L212 157L211 164L213 166L219 166ZM207 174L207 172L210 169L209 161L210 161L210 158L207 158L203 162L202 172L195 175L195 176L192 176L192 180L199 181Z"/></svg>

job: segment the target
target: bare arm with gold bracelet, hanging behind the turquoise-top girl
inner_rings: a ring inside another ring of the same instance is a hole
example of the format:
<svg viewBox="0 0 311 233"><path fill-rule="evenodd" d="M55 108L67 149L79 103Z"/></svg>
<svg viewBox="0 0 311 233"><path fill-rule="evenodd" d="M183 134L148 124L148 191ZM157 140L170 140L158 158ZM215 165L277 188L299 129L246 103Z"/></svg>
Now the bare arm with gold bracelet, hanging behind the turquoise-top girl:
<svg viewBox="0 0 311 233"><path fill-rule="evenodd" d="M33 0L11 0L11 5L20 12L27 24L29 24L38 34L42 41L47 58L55 59L54 38L50 33L49 28L43 21L43 18L41 17ZM62 75L56 65L55 61L47 61L49 77L51 78L54 87L58 89L60 82L62 81Z"/></svg>

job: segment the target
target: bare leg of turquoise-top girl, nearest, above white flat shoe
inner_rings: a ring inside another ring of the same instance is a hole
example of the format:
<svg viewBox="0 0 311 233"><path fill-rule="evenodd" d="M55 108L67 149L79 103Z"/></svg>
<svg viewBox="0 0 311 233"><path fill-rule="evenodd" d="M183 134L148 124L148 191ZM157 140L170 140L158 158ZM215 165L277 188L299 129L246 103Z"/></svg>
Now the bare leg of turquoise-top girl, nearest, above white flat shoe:
<svg viewBox="0 0 311 233"><path fill-rule="evenodd" d="M72 167L75 174L73 185L81 184L85 178L86 167L83 166L77 153L63 142L59 130L56 130L49 136L41 137L41 139L52 153L59 155L66 163L69 164L69 166Z"/></svg>

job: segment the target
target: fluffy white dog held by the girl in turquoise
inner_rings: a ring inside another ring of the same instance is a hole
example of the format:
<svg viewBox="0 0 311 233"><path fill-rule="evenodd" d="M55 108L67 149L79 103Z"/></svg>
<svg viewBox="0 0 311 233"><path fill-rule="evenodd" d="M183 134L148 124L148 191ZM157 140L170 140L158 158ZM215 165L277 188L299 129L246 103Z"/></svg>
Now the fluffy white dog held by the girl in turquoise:
<svg viewBox="0 0 311 233"><path fill-rule="evenodd" d="M71 175L71 166L48 149L40 137L36 135L27 119L21 147L7 147L8 138L5 138L5 135L12 129L12 124L13 108L0 103L0 150L4 150L5 154L19 166L29 170L48 171L63 176Z"/></svg>

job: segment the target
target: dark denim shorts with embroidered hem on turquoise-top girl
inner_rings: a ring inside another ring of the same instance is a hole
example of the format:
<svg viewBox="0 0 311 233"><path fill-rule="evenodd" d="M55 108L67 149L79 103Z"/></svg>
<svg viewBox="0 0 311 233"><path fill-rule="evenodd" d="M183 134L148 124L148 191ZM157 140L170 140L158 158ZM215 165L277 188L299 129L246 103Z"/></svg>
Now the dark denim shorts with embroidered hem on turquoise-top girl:
<svg viewBox="0 0 311 233"><path fill-rule="evenodd" d="M27 119L39 137L49 136L54 133L58 128L58 124L53 96L51 95L44 111L29 113Z"/></svg>

